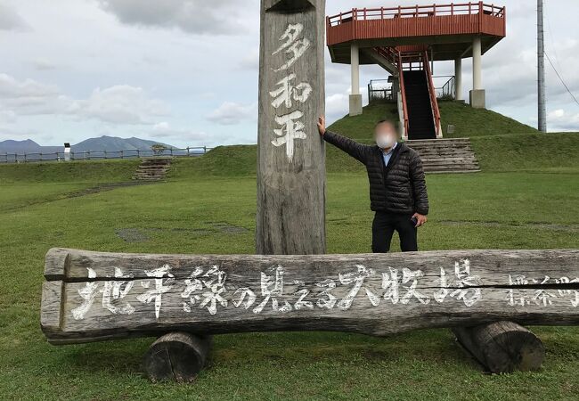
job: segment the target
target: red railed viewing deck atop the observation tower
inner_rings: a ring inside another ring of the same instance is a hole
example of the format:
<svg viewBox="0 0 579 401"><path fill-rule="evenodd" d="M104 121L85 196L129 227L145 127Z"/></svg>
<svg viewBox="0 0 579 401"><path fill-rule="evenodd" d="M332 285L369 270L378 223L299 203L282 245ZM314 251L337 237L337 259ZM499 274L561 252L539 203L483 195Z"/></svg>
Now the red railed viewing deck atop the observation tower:
<svg viewBox="0 0 579 401"><path fill-rule="evenodd" d="M429 45L431 60L469 55L473 37L486 53L506 36L506 9L494 4L430 4L353 8L326 18L331 61L350 63L350 45L359 47ZM374 64L366 57L361 64Z"/></svg>

